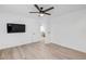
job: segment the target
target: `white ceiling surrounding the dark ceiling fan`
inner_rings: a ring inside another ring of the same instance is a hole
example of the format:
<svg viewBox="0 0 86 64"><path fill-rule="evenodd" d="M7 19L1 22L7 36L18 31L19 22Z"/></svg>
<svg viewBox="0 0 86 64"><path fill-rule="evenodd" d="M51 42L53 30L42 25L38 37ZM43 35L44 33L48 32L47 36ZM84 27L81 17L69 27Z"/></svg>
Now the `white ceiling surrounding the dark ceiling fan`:
<svg viewBox="0 0 86 64"><path fill-rule="evenodd" d="M71 12L79 11L86 9L85 4L40 4L39 7L44 7L47 9L49 7L54 7L54 10L49 11L52 15L63 15ZM36 15L29 14L29 11L37 11L37 9L33 4L1 4L0 12L19 14L19 15Z"/></svg>

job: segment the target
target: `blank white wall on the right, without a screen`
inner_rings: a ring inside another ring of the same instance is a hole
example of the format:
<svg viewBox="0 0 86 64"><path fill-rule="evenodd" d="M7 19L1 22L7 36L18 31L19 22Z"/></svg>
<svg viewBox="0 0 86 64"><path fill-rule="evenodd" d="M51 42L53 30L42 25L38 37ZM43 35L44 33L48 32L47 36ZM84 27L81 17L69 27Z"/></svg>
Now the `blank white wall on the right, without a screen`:
<svg viewBox="0 0 86 64"><path fill-rule="evenodd" d="M86 52L86 10L72 12L51 22L51 41Z"/></svg>

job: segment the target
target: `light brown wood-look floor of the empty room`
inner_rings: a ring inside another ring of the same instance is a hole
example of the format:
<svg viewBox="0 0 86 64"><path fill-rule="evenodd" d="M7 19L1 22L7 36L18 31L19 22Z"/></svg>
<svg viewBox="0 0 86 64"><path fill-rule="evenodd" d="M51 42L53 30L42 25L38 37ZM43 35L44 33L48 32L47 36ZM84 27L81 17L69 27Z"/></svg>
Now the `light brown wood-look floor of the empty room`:
<svg viewBox="0 0 86 64"><path fill-rule="evenodd" d="M34 42L0 50L0 60L85 60L86 53L54 43Z"/></svg>

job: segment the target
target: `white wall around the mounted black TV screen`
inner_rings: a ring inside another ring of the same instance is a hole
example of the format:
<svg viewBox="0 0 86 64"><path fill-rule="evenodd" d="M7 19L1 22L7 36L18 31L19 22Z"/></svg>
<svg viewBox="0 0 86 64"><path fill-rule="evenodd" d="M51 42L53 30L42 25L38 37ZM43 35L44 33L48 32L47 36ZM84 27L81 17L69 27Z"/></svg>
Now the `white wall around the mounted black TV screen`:
<svg viewBox="0 0 86 64"><path fill-rule="evenodd" d="M26 33L8 34L7 23L25 24ZM10 13L0 13L0 49L35 42L38 40L40 40L38 20L15 14L13 15Z"/></svg>

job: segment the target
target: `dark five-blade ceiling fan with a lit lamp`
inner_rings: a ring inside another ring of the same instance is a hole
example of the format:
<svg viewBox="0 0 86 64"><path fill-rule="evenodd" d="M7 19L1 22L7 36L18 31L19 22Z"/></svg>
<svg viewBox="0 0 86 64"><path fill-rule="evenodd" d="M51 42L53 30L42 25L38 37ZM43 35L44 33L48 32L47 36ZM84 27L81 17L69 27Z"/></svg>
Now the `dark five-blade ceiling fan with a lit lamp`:
<svg viewBox="0 0 86 64"><path fill-rule="evenodd" d="M39 8L37 4L34 4L34 7L38 10L38 12L29 12L29 13L38 13L39 16L44 16L45 14L51 15L50 13L47 13L47 12L54 9L53 7L51 7L49 9L44 10L42 7Z"/></svg>

